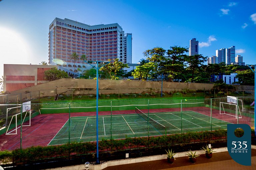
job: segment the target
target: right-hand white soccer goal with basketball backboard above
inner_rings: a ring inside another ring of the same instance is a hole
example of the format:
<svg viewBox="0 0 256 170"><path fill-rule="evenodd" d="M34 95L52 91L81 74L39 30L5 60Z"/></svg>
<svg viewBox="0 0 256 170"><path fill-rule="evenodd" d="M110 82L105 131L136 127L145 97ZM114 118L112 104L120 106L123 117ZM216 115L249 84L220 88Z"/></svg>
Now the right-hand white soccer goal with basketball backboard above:
<svg viewBox="0 0 256 170"><path fill-rule="evenodd" d="M237 97L227 96L227 103L220 102L220 115L225 114L239 119L242 118L241 111L244 111L243 108L243 100L237 99Z"/></svg>

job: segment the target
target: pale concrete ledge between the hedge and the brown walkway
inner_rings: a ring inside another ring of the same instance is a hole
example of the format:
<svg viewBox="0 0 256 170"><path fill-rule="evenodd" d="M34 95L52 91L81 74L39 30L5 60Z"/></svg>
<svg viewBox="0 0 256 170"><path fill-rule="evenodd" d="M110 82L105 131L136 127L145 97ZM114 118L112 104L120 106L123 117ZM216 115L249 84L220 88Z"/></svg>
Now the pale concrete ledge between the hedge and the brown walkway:
<svg viewBox="0 0 256 170"><path fill-rule="evenodd" d="M251 146L252 149L256 149L256 145ZM226 152L228 151L227 147L221 147L221 148L214 148L214 151L216 152ZM178 152L175 155L175 158L178 157L184 157L187 152ZM203 150L197 150L197 154L202 155L204 154ZM131 163L139 163L139 162L147 162L147 161L155 161L155 160L161 160L166 159L165 154L163 155L154 155L154 156L145 156L145 157L139 157L139 158L127 158L127 159L120 159L120 160L113 160L104 162L100 165L90 165L89 170L102 170L104 168L107 168L109 166L116 166L116 165L124 165L124 164L131 164ZM47 170L84 170L84 165L74 165L74 166L68 166L68 167L61 167L61 168L51 168Z"/></svg>

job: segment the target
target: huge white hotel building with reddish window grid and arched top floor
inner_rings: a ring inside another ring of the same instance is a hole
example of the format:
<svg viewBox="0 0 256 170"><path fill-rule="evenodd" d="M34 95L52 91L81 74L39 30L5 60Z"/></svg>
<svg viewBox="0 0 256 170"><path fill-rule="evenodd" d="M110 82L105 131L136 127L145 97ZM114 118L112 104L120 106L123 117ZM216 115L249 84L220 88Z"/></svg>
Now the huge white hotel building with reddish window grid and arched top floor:
<svg viewBox="0 0 256 170"><path fill-rule="evenodd" d="M132 34L125 34L117 24L90 26L69 19L55 18L49 26L49 63L78 72L83 61L70 58L72 53L88 60L119 58L132 63ZM57 62L56 62L57 61Z"/></svg>

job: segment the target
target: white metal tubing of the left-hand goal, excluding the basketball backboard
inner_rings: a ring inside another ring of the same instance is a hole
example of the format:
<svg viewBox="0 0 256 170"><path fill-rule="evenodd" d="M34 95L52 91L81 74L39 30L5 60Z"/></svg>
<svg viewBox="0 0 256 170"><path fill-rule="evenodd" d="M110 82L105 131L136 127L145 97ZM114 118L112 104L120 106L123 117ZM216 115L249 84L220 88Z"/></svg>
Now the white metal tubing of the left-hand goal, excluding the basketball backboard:
<svg viewBox="0 0 256 170"><path fill-rule="evenodd" d="M6 121L7 121L7 118L8 118L8 112L9 112L11 109L20 108L20 107L21 107L21 106L17 106L17 107L13 107L13 108L7 108L7 109L6 109L6 110L7 110L7 113L6 113ZM23 125L23 123L24 123L24 121L25 121L25 119L26 119L28 113L29 113L29 124L28 124L28 125ZM8 134L17 134L17 130L18 130L18 128L20 128L21 126L22 126L22 127L31 126L31 110L27 110L27 111L26 111L26 114L25 114L24 118L22 119L21 125L18 125L18 124L17 124L17 116L20 115L20 114L21 114L21 113L18 113L18 114L16 114L16 115L13 115L13 116L12 116L12 119L11 119L11 121L9 122L8 128L7 128L6 133L5 133L6 135L8 135ZM8 132L8 130L9 130L11 124L12 124L13 118L15 119L15 128L14 128L13 130L11 130L10 132Z"/></svg>

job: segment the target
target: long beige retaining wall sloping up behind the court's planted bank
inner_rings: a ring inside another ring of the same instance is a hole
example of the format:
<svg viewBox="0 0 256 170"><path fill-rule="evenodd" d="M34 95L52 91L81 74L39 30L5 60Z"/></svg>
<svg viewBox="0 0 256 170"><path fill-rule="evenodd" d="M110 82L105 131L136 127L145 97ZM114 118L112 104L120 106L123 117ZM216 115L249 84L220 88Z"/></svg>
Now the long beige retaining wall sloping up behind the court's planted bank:
<svg viewBox="0 0 256 170"><path fill-rule="evenodd" d="M182 89L189 90L210 90L214 84L204 83L178 83L178 82L163 82L163 91L180 91ZM56 88L57 87L57 88ZM24 93L25 91L41 91L45 96L52 96L56 93L69 93L72 89L77 89L76 94L90 90L90 94L96 93L96 80L92 79L59 79L37 86L16 90L11 94ZM161 91L161 81L127 81L127 80L99 80L99 89L102 94L111 93L141 93L151 91ZM254 90L254 86L239 86L236 85L237 90ZM35 93L38 95L38 93ZM33 96L32 96L33 97Z"/></svg>

